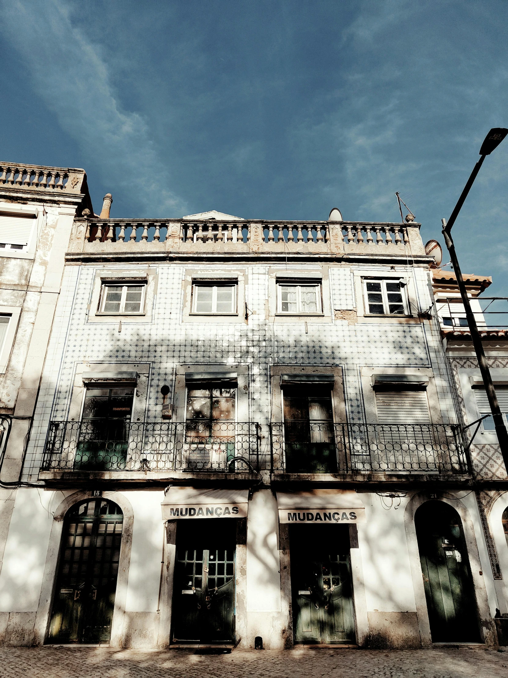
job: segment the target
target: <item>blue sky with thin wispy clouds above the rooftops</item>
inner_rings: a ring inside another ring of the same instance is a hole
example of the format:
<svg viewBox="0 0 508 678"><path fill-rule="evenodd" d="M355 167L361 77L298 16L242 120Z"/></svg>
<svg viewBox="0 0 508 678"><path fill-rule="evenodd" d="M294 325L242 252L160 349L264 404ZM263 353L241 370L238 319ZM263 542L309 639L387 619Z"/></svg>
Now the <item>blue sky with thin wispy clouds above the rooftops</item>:
<svg viewBox="0 0 508 678"><path fill-rule="evenodd" d="M506 0L0 0L1 157L84 167L96 211L397 220L442 241L508 127ZM508 140L453 235L508 296Z"/></svg>

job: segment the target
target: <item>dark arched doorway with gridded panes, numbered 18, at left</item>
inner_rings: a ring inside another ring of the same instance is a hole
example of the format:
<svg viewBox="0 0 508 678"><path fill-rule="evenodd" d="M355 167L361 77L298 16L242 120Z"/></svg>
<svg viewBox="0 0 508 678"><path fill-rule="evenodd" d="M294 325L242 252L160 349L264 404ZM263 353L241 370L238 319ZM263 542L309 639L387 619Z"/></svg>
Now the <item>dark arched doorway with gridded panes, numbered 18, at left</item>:
<svg viewBox="0 0 508 678"><path fill-rule="evenodd" d="M120 507L106 499L66 513L48 643L110 640L122 527Z"/></svg>

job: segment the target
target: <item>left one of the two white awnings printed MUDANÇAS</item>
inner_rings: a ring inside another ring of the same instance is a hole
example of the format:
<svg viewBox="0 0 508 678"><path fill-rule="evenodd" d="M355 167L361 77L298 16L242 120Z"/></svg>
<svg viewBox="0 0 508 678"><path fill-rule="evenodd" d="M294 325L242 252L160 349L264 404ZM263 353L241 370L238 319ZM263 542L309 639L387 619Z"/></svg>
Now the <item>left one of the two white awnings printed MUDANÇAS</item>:
<svg viewBox="0 0 508 678"><path fill-rule="evenodd" d="M182 518L246 518L249 490L170 487L161 506L164 521Z"/></svg>

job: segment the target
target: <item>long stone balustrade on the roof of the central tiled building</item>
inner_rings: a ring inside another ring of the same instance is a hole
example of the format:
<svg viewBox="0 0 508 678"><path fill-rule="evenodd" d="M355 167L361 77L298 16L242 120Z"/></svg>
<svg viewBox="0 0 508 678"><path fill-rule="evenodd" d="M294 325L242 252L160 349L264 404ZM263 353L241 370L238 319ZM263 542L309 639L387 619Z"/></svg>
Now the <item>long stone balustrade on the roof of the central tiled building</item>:
<svg viewBox="0 0 508 678"><path fill-rule="evenodd" d="M415 222L88 219L77 222L71 251L344 252L425 256ZM80 244L81 243L81 244Z"/></svg>

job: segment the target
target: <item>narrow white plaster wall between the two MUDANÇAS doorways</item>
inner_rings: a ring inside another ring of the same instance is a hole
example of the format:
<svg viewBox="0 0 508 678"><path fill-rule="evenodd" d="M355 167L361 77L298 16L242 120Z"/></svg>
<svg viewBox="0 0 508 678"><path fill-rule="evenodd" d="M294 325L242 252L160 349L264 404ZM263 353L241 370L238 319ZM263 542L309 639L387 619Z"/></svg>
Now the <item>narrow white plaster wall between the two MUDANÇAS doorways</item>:
<svg viewBox="0 0 508 678"><path fill-rule="evenodd" d="M255 492L247 518L247 612L280 612L277 530L277 502L272 492Z"/></svg>

